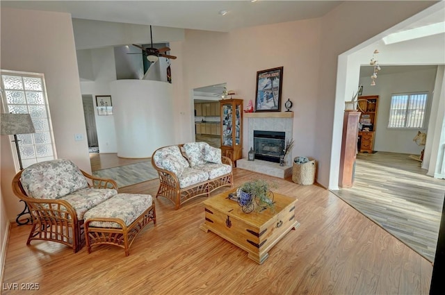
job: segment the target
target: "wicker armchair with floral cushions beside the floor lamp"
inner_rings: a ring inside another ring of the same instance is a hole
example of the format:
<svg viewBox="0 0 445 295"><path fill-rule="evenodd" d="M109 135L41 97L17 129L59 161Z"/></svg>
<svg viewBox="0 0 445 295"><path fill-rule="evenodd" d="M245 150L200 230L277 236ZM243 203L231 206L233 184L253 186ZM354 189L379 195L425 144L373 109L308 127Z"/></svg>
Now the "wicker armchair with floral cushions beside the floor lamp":
<svg viewBox="0 0 445 295"><path fill-rule="evenodd" d="M118 194L118 185L59 159L19 171L13 178L13 192L26 202L31 214L27 245L42 239L70 246L76 253L84 242L83 214Z"/></svg>

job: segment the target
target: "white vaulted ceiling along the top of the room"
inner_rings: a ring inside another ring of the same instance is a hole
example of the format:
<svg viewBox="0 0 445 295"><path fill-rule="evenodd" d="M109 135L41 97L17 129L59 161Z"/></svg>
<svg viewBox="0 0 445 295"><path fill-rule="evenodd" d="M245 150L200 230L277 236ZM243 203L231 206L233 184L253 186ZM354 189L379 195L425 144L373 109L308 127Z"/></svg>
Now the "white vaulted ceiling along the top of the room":
<svg viewBox="0 0 445 295"><path fill-rule="evenodd" d="M228 32L322 17L343 1L1 1L1 7L69 12L73 18ZM223 15L223 12L225 15Z"/></svg>

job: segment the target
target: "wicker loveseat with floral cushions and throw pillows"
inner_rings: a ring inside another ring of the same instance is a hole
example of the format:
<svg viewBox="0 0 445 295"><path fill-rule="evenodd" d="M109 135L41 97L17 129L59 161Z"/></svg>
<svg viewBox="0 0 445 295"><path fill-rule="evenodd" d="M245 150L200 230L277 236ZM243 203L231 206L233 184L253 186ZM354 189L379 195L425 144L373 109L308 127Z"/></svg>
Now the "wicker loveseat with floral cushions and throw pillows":
<svg viewBox="0 0 445 295"><path fill-rule="evenodd" d="M152 155L159 174L156 194L175 204L175 210L197 196L209 196L219 187L233 187L232 160L206 142L163 146Z"/></svg>

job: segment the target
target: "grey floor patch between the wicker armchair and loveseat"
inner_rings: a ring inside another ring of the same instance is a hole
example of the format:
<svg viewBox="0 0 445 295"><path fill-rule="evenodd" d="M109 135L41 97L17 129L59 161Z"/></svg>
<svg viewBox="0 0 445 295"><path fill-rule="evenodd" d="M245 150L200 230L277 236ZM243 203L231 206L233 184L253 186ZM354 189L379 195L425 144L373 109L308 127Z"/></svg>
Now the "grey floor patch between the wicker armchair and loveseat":
<svg viewBox="0 0 445 295"><path fill-rule="evenodd" d="M149 161L97 170L93 171L92 175L100 178L111 178L118 183L118 187L126 187L158 178L158 172Z"/></svg>

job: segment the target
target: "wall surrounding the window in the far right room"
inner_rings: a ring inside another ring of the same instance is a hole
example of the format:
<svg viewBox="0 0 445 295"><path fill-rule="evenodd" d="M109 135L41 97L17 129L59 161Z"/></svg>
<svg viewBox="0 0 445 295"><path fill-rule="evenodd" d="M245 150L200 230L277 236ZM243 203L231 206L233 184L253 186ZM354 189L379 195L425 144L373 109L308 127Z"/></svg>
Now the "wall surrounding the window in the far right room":
<svg viewBox="0 0 445 295"><path fill-rule="evenodd" d="M412 153L420 155L424 146L418 146L413 142L414 136L420 130L426 132L429 115L426 116L424 128L419 129L394 129L387 128L389 121L389 108L391 95L407 92L428 92L428 114L432 102L432 91L435 86L437 67L431 69L416 70L398 74L385 74L385 66L378 73L375 86L369 86L371 78L360 78L359 85L364 85L363 95L378 95L378 117L375 126L375 151L389 151L392 153Z"/></svg>

